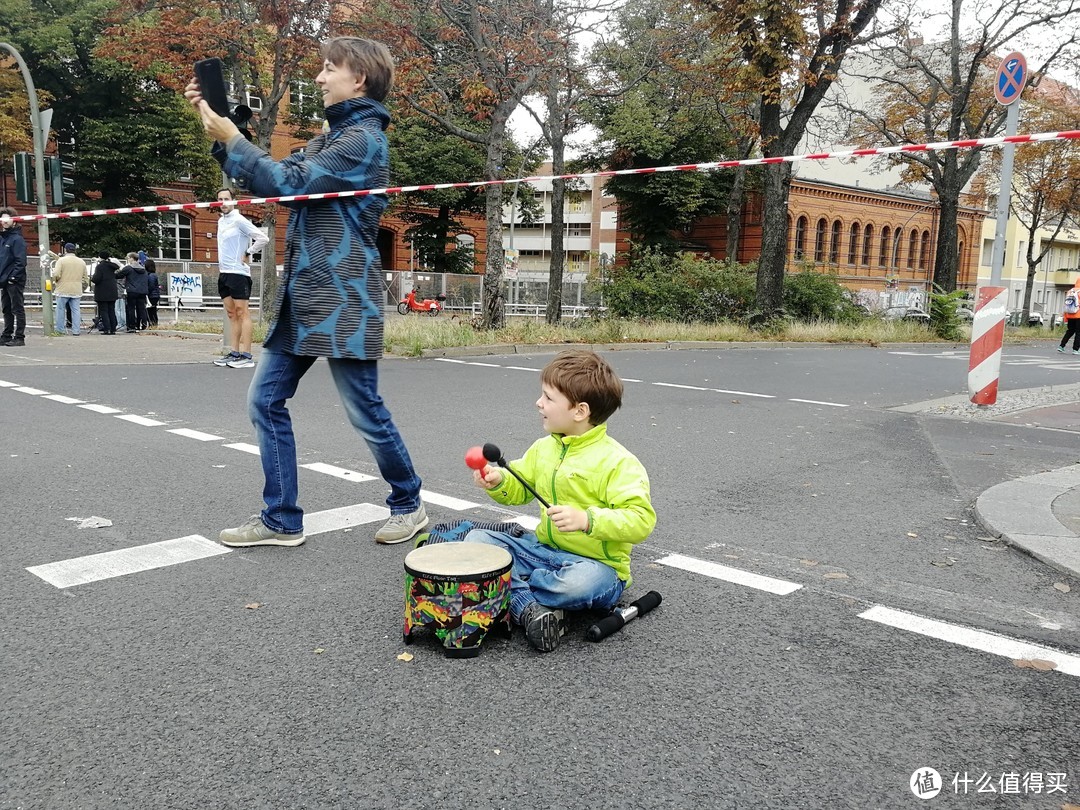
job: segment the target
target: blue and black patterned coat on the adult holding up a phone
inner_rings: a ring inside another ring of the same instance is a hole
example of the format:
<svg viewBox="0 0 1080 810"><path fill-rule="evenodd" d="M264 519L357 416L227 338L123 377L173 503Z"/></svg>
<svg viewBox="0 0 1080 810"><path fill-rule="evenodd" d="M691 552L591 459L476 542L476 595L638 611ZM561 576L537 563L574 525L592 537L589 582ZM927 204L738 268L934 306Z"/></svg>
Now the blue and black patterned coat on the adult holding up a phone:
<svg viewBox="0 0 1080 810"><path fill-rule="evenodd" d="M390 113L370 98L326 108L329 132L275 161L242 136L221 167L259 197L386 188ZM352 360L382 356L382 266L377 239L384 194L283 203L285 275L265 345L287 354Z"/></svg>

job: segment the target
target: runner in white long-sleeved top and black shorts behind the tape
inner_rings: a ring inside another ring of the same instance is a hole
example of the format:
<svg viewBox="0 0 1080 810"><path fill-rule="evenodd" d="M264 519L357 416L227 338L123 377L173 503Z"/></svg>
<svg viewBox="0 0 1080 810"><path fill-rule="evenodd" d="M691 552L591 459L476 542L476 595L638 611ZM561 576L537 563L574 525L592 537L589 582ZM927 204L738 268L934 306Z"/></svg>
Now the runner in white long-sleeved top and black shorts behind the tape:
<svg viewBox="0 0 1080 810"><path fill-rule="evenodd" d="M219 201L233 200L230 189L217 192ZM244 259L258 253L270 240L252 225L235 205L222 205L217 222L217 294L229 316L232 351L214 361L216 366L252 368L252 313L247 301L252 297L252 269Z"/></svg>

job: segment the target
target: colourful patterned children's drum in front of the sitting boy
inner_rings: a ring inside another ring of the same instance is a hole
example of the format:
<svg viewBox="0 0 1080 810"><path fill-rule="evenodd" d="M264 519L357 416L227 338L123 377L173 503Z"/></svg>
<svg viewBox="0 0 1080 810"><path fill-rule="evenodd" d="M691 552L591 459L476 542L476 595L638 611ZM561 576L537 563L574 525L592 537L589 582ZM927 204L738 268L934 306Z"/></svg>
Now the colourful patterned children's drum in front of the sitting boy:
<svg viewBox="0 0 1080 810"><path fill-rule="evenodd" d="M431 625L451 658L480 654L491 630L510 633L510 569L505 549L486 543L434 543L405 557L405 644Z"/></svg>

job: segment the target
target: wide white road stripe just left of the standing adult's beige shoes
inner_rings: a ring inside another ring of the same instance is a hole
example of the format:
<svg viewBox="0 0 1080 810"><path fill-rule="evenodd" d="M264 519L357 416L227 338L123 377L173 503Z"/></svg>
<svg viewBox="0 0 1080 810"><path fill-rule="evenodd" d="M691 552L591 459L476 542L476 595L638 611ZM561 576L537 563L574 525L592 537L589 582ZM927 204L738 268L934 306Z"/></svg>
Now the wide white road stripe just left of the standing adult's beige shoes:
<svg viewBox="0 0 1080 810"><path fill-rule="evenodd" d="M60 563L36 565L26 570L56 588L70 588L228 553L229 549L201 535L188 535L133 549L118 549Z"/></svg>

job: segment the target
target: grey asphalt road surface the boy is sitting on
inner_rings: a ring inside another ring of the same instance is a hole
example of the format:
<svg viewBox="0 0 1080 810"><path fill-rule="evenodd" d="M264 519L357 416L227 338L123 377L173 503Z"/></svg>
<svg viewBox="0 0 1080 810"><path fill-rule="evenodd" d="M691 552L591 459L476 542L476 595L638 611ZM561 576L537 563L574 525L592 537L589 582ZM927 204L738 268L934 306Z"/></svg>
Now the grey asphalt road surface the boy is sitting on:
<svg viewBox="0 0 1080 810"><path fill-rule="evenodd" d="M582 616L552 654L516 634L471 661L402 644L407 546L377 546L378 523L69 588L29 572L256 512L258 460L227 446L254 441L249 373L0 359L0 380L48 392L0 388L0 807L899 808L921 804L926 768L944 779L929 806L1080 802L1080 677L867 618L1080 656L1080 582L985 538L971 509L1075 462L1080 435L890 410L964 390L966 362L932 349L609 357L629 380L610 431L659 514L627 598L663 604L602 644ZM478 504L434 519L505 517L462 456L538 435L545 360L381 365L426 490ZM1002 384L1078 375L1048 343L1007 351ZM377 475L325 365L293 414L301 463ZM309 469L300 487L309 513L387 491ZM112 525L68 519L91 515Z"/></svg>

